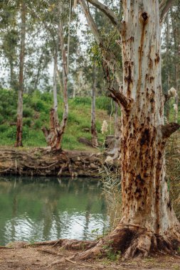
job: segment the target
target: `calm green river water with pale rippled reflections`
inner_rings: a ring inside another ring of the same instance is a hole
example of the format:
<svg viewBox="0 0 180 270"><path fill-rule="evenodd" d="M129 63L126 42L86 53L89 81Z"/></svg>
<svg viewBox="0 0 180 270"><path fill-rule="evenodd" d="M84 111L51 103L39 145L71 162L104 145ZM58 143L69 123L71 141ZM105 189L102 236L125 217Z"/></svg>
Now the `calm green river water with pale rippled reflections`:
<svg viewBox="0 0 180 270"><path fill-rule="evenodd" d="M90 179L0 178L0 244L93 239L108 227L100 183Z"/></svg>

